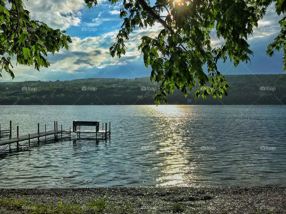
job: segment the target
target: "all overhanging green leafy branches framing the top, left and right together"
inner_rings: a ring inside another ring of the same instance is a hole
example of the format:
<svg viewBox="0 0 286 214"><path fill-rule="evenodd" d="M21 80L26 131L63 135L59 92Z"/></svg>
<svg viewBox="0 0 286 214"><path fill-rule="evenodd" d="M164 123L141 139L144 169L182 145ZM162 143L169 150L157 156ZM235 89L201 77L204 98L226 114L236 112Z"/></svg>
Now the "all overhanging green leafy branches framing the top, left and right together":
<svg viewBox="0 0 286 214"><path fill-rule="evenodd" d="M88 8L97 6L97 0L84 0ZM277 0L108 0L111 4L122 4L119 17L123 19L116 42L110 48L112 57L125 54L124 42L136 28L153 26L159 22L164 26L157 37L143 36L138 49L142 51L144 64L151 67L151 80L160 84L155 92L155 104L167 103L166 95L187 89L195 84L195 97L227 95L229 85L218 71L219 60L230 60L237 66L250 61L253 52L247 43L248 37L257 28L258 21L265 15L267 7L275 4L276 13L285 15L286 1ZM10 7L7 7L9 5ZM161 15L166 12L167 15ZM14 78L11 56L17 63L48 67L44 56L54 54L60 48L68 48L71 38L65 31L53 30L45 23L30 20L29 11L24 9L23 0L0 1L0 75L6 70ZM279 21L281 32L267 48L267 54L284 50L286 70L286 18ZM223 41L221 47L211 46L210 33ZM203 67L207 67L207 74Z"/></svg>

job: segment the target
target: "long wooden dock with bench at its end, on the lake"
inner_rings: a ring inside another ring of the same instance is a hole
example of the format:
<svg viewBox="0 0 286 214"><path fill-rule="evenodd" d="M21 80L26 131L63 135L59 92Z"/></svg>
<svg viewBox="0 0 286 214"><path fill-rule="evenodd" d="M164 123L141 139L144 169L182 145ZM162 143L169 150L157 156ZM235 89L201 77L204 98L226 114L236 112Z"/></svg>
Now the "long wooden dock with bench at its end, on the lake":
<svg viewBox="0 0 286 214"><path fill-rule="evenodd" d="M2 138L0 139L0 150L6 150L9 147L9 151L11 151L11 145L17 144L17 149L19 149L19 146L23 145L29 145L33 142L38 142L40 144L40 141L46 141L48 138L55 138L58 139L58 136L62 138L63 136L69 136L71 139L72 134L77 135L77 139L80 139L81 136L93 136L97 140L97 135L102 135L102 138L105 137L105 140L107 139L107 136L111 135L111 122L109 122L109 130L107 130L107 123L105 123L105 130L103 129L103 123L102 123L102 130L99 130L99 121L96 122L87 122L87 121L73 121L73 130L69 128L69 130L63 130L62 125L60 130L57 128L57 121L54 121L54 130L46 130L46 124L45 124L45 131L40 132L40 124L38 123L38 132L27 134L24 136L19 136L19 126L17 126L17 137L11 137L12 136L12 122L10 121L10 129L8 130L2 130L0 133L10 133L9 138ZM77 124L77 125L76 125ZM81 130L80 126L95 126L95 130ZM1 125L0 125L1 127Z"/></svg>

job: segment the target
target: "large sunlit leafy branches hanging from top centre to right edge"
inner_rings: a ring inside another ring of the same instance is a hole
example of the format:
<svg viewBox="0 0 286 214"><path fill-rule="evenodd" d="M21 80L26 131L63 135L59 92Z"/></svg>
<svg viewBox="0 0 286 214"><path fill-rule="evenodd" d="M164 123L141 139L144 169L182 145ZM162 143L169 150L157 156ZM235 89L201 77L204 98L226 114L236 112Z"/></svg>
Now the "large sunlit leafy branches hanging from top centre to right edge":
<svg viewBox="0 0 286 214"><path fill-rule="evenodd" d="M286 1L278 0L109 0L111 4L121 4L120 18L123 24L117 41L110 48L111 56L125 54L125 40L136 27L153 26L159 22L164 29L157 37L142 37L138 49L142 51L144 64L151 67L151 80L160 84L155 92L155 103L167 103L166 95L181 90L186 96L198 82L195 97L227 95L229 85L217 69L217 62L230 60L234 66L250 61L253 52L249 49L248 37L257 28L258 21L265 15L267 7L275 3L278 15L285 13ZM96 0L85 0L91 8ZM162 16L163 12L166 16ZM267 54L284 49L284 70L286 70L285 17L279 22L282 29L273 43L269 44ZM213 48L210 33L215 30L216 37L223 45ZM203 70L207 67L207 74ZM207 83L210 85L207 85Z"/></svg>

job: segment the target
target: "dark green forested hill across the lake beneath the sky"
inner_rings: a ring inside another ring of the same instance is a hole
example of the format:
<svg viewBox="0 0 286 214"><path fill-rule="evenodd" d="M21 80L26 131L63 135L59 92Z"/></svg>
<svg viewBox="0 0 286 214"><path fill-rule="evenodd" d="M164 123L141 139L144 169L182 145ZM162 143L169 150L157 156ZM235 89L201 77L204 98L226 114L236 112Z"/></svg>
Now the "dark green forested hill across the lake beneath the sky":
<svg viewBox="0 0 286 214"><path fill-rule="evenodd" d="M168 97L169 104L286 105L286 74L226 75L228 97L194 100L180 91ZM25 81L0 83L0 105L141 105L153 104L158 85L149 77L135 79L88 78L71 81Z"/></svg>

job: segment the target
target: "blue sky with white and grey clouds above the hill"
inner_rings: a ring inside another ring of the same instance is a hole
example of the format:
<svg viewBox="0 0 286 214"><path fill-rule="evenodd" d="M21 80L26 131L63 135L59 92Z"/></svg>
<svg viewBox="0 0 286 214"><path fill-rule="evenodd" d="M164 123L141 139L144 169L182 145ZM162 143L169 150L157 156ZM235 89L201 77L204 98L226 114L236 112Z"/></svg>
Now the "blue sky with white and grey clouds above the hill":
<svg viewBox="0 0 286 214"><path fill-rule="evenodd" d="M123 20L119 18L120 2L111 5L109 1L100 0L97 7L88 9L83 0L29 0L24 1L31 19L47 23L54 29L66 30L73 43L69 50L61 49L54 56L49 55L49 68L39 71L34 66L15 66L13 81L64 81L79 78L128 78L150 76L150 69L143 63L143 56L138 51L143 35L156 37L162 29L161 24L147 29L136 29L126 42L126 55L112 58L109 48L116 41ZM279 16L274 5L248 39L250 49L254 52L251 63L241 63L234 67L231 62L218 64L222 74L279 74L283 73L282 51L273 57L266 55L267 45L280 31ZM215 35L215 32L212 32ZM222 41L212 36L212 46L220 46ZM16 61L13 59L15 65ZM12 81L3 71L0 81Z"/></svg>

